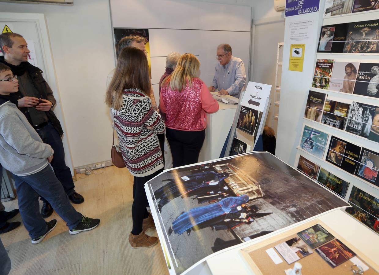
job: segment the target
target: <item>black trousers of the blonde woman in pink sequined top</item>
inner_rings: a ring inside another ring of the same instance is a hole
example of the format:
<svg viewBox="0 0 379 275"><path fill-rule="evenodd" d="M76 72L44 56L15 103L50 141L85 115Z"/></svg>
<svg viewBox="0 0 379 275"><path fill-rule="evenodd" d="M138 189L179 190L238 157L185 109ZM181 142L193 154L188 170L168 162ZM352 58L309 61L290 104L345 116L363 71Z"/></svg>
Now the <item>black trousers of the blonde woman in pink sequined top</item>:
<svg viewBox="0 0 379 275"><path fill-rule="evenodd" d="M174 167L197 163L205 139L205 130L182 131L166 128Z"/></svg>

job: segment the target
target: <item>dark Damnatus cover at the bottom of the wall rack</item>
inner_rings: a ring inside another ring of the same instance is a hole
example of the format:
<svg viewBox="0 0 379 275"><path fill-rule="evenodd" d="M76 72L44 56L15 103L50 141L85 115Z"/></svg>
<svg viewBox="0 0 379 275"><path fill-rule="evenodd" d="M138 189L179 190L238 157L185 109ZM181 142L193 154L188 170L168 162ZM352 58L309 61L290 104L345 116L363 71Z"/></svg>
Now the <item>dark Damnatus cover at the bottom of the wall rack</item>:
<svg viewBox="0 0 379 275"><path fill-rule="evenodd" d="M346 212L379 234L379 199L353 186Z"/></svg>

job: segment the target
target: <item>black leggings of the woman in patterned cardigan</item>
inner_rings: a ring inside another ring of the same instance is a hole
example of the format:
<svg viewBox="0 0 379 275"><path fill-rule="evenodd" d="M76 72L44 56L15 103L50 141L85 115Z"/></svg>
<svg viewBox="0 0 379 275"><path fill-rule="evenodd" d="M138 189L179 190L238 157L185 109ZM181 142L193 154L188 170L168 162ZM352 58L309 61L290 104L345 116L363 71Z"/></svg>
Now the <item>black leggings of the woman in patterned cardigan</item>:
<svg viewBox="0 0 379 275"><path fill-rule="evenodd" d="M145 177L134 177L133 179L133 204L132 204L132 219L133 219L133 235L138 235L142 232L142 222L143 219L149 217L149 212L147 212L147 197L145 192L145 183L151 180L153 177L158 175L163 171L163 168L157 172L145 176Z"/></svg>

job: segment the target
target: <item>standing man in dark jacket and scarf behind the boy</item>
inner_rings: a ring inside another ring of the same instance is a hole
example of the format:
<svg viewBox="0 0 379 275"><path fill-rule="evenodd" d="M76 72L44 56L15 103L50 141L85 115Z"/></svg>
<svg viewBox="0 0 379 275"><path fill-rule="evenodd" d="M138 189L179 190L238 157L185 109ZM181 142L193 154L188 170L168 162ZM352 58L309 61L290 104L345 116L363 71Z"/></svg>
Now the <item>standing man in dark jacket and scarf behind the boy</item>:
<svg viewBox="0 0 379 275"><path fill-rule="evenodd" d="M74 181L69 167L64 161L64 148L61 136L63 130L52 108L56 104L49 84L42 77L42 70L28 63L30 51L25 39L17 33L3 33L0 35L0 47L4 56L0 56L0 63L9 66L19 80L19 92L13 94L18 101L18 108L27 117L29 123L37 131L44 143L54 150L54 159L51 165L64 191L72 203L82 203L84 198L75 192ZM49 217L53 208L45 198L41 214Z"/></svg>

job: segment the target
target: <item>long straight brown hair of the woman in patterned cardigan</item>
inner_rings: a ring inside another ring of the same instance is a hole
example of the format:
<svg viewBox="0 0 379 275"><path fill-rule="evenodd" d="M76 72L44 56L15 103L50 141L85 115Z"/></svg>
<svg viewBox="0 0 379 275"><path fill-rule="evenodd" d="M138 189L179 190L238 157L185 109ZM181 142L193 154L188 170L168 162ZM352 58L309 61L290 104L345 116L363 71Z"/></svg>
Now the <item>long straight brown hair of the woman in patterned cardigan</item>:
<svg viewBox="0 0 379 275"><path fill-rule="evenodd" d="M150 87L149 64L145 53L136 47L125 47L117 59L113 78L106 90L105 103L119 110L122 108L124 89L140 89L148 96Z"/></svg>

